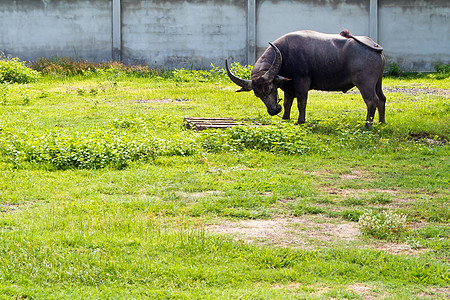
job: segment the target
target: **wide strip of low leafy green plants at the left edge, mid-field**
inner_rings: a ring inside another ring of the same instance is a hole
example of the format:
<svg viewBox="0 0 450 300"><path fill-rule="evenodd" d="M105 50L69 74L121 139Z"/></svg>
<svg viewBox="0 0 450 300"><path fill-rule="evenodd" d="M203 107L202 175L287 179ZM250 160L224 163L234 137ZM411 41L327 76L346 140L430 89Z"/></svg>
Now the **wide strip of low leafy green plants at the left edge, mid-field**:
<svg viewBox="0 0 450 300"><path fill-rule="evenodd" d="M122 169L131 162L162 155L191 155L195 149L189 141L167 141L149 135L130 137L114 130L10 134L0 142L0 153L7 163L16 167L25 162L37 163L57 170Z"/></svg>

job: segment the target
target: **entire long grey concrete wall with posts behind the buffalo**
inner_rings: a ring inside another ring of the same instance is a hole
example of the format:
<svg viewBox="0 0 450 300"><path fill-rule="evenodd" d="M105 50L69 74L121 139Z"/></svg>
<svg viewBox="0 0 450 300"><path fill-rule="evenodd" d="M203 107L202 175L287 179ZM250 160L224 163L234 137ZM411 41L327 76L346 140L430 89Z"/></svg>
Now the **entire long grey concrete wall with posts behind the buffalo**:
<svg viewBox="0 0 450 300"><path fill-rule="evenodd" d="M254 60L284 33L368 35L390 62L450 63L449 0L2 0L0 51L161 68Z"/></svg>

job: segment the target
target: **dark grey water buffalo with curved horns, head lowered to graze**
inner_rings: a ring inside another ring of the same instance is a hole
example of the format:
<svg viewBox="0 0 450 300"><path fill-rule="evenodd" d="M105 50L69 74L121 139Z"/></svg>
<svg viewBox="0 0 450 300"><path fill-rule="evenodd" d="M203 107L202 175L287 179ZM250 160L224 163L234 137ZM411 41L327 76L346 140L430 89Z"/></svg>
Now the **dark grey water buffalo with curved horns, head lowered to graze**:
<svg viewBox="0 0 450 300"><path fill-rule="evenodd" d="M270 115L281 112L277 89L284 91L283 119L289 119L294 98L298 103L298 122L305 122L308 91L347 92L356 86L367 105L366 127L371 127L378 107L384 123L386 97L381 88L385 58L383 48L364 36L348 30L324 34L310 30L291 32L269 43L256 61L250 80L236 77L228 68L230 79L251 91L264 102Z"/></svg>

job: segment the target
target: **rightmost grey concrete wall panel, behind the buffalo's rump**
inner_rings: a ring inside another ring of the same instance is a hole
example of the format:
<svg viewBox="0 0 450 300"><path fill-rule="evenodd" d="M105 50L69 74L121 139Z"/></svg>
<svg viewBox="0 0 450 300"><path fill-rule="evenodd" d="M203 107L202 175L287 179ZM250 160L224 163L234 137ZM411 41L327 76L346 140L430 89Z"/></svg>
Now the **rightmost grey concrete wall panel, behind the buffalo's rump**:
<svg viewBox="0 0 450 300"><path fill-rule="evenodd" d="M379 43L387 65L433 70L450 63L449 0L380 0Z"/></svg>

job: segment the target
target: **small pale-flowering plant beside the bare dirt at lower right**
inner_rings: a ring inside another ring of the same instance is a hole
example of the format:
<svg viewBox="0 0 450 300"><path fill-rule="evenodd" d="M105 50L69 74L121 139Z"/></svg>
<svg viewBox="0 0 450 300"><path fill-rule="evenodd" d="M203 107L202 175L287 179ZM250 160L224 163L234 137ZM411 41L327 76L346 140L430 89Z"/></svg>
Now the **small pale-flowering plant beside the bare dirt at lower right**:
<svg viewBox="0 0 450 300"><path fill-rule="evenodd" d="M361 232L378 239L397 240L408 231L406 215L384 211L366 211L359 217Z"/></svg>

